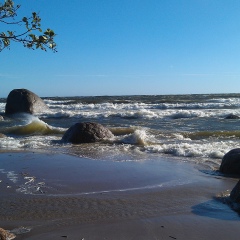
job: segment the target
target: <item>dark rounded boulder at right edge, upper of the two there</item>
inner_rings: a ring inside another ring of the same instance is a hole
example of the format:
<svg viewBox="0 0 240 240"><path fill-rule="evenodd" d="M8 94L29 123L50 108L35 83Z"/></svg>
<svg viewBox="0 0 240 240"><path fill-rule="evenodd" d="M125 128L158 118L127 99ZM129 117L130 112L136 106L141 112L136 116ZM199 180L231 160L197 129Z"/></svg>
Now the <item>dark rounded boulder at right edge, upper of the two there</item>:
<svg viewBox="0 0 240 240"><path fill-rule="evenodd" d="M235 148L223 156L219 169L226 174L240 174L240 148Z"/></svg>

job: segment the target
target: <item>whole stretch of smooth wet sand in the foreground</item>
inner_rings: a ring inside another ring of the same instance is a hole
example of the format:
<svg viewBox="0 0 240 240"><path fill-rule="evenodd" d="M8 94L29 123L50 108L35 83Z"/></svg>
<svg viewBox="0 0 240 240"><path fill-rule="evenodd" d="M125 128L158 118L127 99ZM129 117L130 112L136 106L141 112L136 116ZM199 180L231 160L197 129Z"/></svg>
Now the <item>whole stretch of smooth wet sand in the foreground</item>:
<svg viewBox="0 0 240 240"><path fill-rule="evenodd" d="M239 239L216 196L238 179L171 159L0 153L0 227L16 239Z"/></svg>

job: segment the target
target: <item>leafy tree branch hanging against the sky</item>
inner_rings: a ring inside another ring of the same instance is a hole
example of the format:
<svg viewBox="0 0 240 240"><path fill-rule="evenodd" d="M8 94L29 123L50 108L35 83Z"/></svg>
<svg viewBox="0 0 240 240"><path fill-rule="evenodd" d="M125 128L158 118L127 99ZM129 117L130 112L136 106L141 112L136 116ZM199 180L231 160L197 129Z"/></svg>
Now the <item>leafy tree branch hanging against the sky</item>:
<svg viewBox="0 0 240 240"><path fill-rule="evenodd" d="M0 52L5 48L10 48L11 42L22 43L24 47L29 49L41 49L46 51L51 49L56 52L56 43L54 37L56 34L53 30L47 29L44 32L41 29L41 18L36 12L33 12L30 17L23 17L21 20L16 20L17 12L21 6L14 5L12 0L5 0L0 3L0 24L17 26L21 32L7 30L0 32ZM38 35L35 33L39 32Z"/></svg>

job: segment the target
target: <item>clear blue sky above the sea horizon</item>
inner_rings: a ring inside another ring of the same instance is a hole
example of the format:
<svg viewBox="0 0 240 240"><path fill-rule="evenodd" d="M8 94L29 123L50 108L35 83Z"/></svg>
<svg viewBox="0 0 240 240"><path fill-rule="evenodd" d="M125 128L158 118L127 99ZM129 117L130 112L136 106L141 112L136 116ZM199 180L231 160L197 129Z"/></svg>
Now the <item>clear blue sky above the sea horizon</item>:
<svg viewBox="0 0 240 240"><path fill-rule="evenodd" d="M0 53L0 97L236 93L239 0L15 0L39 12L58 53Z"/></svg>

